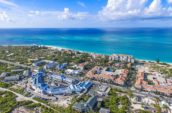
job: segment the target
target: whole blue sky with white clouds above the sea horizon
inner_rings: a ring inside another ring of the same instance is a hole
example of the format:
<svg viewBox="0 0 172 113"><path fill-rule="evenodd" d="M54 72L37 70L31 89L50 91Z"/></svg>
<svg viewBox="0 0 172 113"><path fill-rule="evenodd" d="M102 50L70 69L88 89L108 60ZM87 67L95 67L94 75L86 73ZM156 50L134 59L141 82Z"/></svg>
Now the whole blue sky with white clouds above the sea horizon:
<svg viewBox="0 0 172 113"><path fill-rule="evenodd" d="M172 0L0 0L0 28L172 27Z"/></svg>

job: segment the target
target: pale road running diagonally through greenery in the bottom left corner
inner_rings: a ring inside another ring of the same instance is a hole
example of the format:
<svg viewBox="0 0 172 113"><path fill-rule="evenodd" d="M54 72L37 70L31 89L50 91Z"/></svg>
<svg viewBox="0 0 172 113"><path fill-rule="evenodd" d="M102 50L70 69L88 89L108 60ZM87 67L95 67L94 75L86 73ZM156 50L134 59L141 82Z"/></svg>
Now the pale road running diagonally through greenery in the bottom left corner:
<svg viewBox="0 0 172 113"><path fill-rule="evenodd" d="M39 102L39 101L37 101L37 100L34 100L34 99L30 98L30 97L25 97L25 96L23 96L23 95L21 95L21 94L19 94L19 93L16 93L16 92L14 92L14 91L12 91L12 90L9 90L9 89L0 87L0 91L9 91L9 92L15 94L16 96L18 96L19 98L22 98L23 100L32 101L32 102L34 102L34 103L41 104L41 105L43 105L43 106L45 106L45 107L47 107L47 108L50 108L50 109L52 109L52 110L58 112L57 110L55 110L54 108L52 108L51 106L49 106L49 105L47 105L47 104L41 103L41 102Z"/></svg>

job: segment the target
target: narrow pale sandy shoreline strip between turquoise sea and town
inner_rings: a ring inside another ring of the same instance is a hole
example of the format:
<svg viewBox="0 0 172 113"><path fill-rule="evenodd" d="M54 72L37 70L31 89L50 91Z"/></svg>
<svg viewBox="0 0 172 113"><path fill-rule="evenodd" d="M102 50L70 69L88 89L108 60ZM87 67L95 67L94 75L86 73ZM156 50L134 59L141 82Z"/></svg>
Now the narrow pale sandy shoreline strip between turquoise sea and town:
<svg viewBox="0 0 172 113"><path fill-rule="evenodd" d="M103 54L103 53L95 53L95 52L89 52L89 51L82 51L82 50L77 50L77 49L71 49L71 48L66 48L66 47L60 47L60 46L52 46L52 45L38 45L38 44L21 44L21 45L0 45L1 47L7 47L7 46L11 46L11 47L17 47L17 46L40 46L40 47L47 47L47 48L50 48L50 49L57 49L57 50L71 50L71 51L78 51L78 52L81 52L81 53L88 53L88 54L96 54L96 55L108 55L108 56L111 56L112 54ZM114 53L116 54L116 53ZM129 55L129 54L124 54L124 55ZM133 55L129 55L129 56L133 56ZM133 56L134 57L134 56ZM135 58L135 57L134 57ZM149 62L153 62L153 63L156 63L156 61L154 60L148 60L148 59L139 59L139 58L135 58L137 61L141 61L141 62L146 62L146 63L149 63ZM164 61L160 61L160 63L165 63L165 64L168 64L168 65L172 65L172 62L164 62Z"/></svg>

